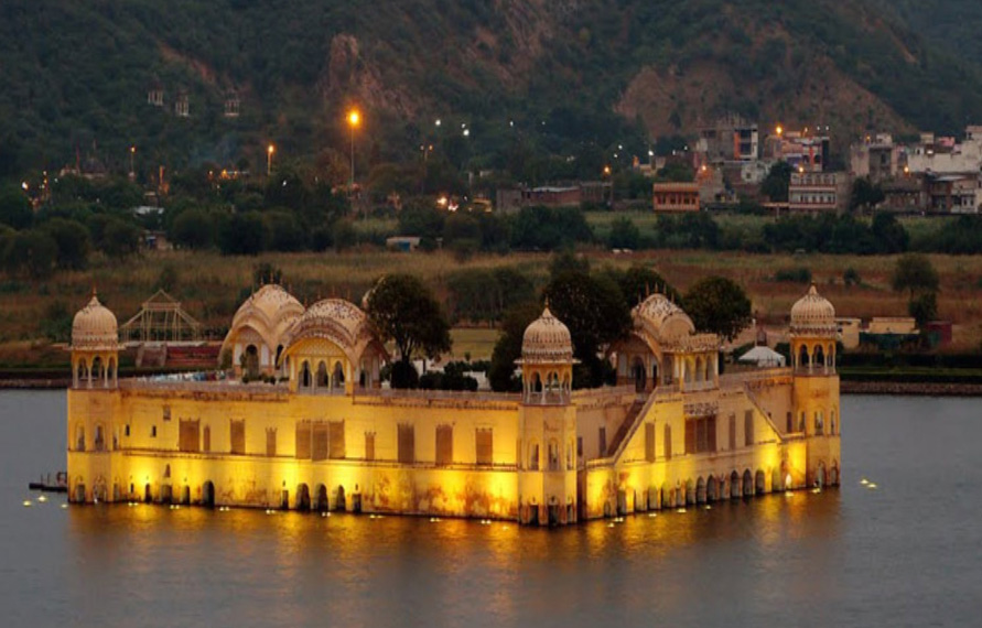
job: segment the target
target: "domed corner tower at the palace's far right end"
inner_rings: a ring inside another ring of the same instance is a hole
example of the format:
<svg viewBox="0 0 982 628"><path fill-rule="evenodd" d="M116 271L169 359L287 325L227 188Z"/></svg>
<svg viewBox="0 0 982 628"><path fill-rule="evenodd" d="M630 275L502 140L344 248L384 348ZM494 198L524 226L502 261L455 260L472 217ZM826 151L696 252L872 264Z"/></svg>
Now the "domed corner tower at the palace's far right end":
<svg viewBox="0 0 982 628"><path fill-rule="evenodd" d="M839 376L835 307L814 284L791 306L792 427L807 443L808 486L839 484ZM797 466L797 465L796 465Z"/></svg>

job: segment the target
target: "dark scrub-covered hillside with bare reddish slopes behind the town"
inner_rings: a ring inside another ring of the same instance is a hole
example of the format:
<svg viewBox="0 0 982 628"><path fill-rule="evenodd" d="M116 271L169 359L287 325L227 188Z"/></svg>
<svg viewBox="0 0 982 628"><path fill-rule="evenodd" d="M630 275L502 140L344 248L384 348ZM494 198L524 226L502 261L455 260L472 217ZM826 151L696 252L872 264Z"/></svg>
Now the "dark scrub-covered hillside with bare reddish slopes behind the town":
<svg viewBox="0 0 982 628"><path fill-rule="evenodd" d="M726 111L830 126L840 145L956 132L982 113L980 69L925 15L881 0L7 0L0 176L76 155L122 171L130 145L144 172L258 169L267 142L343 165L350 105L366 115L359 166L439 142L454 166L553 154L592 172L617 144L629 159ZM154 84L165 107L147 102ZM188 118L173 113L181 89ZM231 91L238 118L223 116Z"/></svg>

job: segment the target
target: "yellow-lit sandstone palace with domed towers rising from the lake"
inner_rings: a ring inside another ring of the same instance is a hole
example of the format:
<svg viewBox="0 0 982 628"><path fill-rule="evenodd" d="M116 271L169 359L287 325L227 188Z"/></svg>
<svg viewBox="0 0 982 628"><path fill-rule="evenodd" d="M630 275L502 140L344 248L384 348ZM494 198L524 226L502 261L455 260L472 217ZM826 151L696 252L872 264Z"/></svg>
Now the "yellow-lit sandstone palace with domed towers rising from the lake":
<svg viewBox="0 0 982 628"><path fill-rule="evenodd" d="M787 368L721 373L720 339L661 294L633 317L614 387L572 390L570 332L547 307L521 393L389 390L361 308L266 285L225 339L228 378L119 380L117 321L93 296L73 325L69 499L541 526L838 485L834 308L814 286Z"/></svg>

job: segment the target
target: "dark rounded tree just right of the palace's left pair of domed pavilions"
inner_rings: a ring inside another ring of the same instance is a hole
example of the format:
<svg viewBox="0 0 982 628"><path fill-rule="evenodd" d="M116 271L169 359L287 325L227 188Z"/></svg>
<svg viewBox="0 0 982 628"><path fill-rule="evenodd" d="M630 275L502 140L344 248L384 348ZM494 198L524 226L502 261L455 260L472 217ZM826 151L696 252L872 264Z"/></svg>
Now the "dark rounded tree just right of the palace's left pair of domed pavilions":
<svg viewBox="0 0 982 628"><path fill-rule="evenodd" d="M440 303L411 274L379 279L368 296L368 318L384 342L392 340L403 365L421 354L433 359L451 348L450 324ZM401 367L404 368L404 367ZM396 386L393 378L392 386Z"/></svg>

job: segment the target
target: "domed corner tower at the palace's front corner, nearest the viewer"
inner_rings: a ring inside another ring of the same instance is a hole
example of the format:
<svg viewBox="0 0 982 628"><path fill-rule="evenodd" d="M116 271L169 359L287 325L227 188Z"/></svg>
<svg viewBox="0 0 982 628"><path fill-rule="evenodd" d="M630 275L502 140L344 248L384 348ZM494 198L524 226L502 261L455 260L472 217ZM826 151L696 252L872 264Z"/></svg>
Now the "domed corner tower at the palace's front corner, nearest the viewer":
<svg viewBox="0 0 982 628"><path fill-rule="evenodd" d="M576 520L576 410L570 329L549 305L521 340L518 415L519 522L562 526Z"/></svg>

